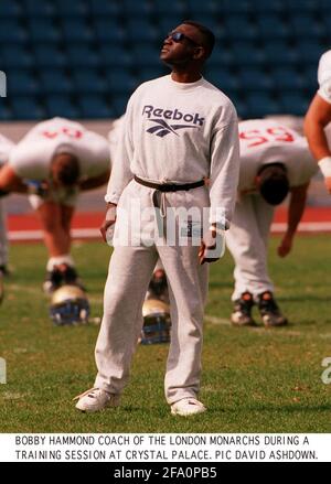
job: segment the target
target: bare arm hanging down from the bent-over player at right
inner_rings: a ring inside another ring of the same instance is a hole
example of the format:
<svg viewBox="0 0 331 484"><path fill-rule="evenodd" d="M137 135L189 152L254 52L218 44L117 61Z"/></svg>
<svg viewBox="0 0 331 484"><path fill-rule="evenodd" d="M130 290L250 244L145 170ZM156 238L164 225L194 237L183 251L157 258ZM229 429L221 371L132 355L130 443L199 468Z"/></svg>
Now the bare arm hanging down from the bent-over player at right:
<svg viewBox="0 0 331 484"><path fill-rule="evenodd" d="M287 230L278 247L278 256L280 257L286 257L292 248L293 237L305 211L308 186L309 183L300 186L293 186L290 190Z"/></svg>

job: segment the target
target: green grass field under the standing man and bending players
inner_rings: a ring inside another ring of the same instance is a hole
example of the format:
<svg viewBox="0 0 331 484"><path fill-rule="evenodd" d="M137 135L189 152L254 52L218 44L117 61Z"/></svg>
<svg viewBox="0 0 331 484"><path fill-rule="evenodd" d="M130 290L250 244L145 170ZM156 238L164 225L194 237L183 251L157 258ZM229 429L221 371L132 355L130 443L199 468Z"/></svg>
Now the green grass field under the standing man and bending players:
<svg viewBox="0 0 331 484"><path fill-rule="evenodd" d="M98 326L55 327L42 293L42 245L11 247L12 276L0 308L1 432L331 432L331 385L321 381L331 356L330 236L298 237L287 259L270 244L278 302L290 319L284 329L235 329L228 255L212 266L206 310L201 399L209 411L172 417L163 397L167 345L138 347L130 384L116 410L86 415L72 398L95 377ZM102 314L109 248L76 243L93 316Z"/></svg>

